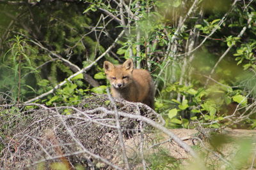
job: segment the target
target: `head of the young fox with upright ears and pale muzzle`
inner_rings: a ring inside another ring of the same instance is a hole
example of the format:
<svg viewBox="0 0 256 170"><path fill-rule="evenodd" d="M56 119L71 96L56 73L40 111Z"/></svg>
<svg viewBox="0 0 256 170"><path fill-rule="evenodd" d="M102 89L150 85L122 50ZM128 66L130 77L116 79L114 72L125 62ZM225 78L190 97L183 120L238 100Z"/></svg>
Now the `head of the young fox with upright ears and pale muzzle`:
<svg viewBox="0 0 256 170"><path fill-rule="evenodd" d="M111 62L105 61L104 70L108 80L115 89L124 89L132 82L132 59L128 59L123 65L118 66L115 66Z"/></svg>

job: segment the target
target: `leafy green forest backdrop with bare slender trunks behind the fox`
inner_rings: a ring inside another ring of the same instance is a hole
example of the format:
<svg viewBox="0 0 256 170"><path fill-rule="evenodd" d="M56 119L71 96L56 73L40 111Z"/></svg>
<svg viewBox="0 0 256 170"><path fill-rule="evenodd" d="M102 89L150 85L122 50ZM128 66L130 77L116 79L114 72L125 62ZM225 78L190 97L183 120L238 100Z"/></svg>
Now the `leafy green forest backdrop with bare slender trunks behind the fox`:
<svg viewBox="0 0 256 170"><path fill-rule="evenodd" d="M104 60L132 58L154 78L164 127L256 127L253 0L0 0L0 8L1 104L76 106L106 94Z"/></svg>

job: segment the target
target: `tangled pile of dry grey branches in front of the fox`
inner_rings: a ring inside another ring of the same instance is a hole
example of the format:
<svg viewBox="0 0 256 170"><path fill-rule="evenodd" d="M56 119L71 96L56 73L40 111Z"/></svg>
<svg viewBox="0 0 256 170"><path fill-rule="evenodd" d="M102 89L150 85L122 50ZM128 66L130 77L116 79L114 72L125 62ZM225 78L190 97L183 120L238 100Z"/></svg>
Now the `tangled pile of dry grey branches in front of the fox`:
<svg viewBox="0 0 256 170"><path fill-rule="evenodd" d="M29 110L25 106L22 109L19 107L19 114L10 114L10 109L1 108L2 113L7 110L9 112L8 116L2 114L0 118L0 129L8 129L3 131L4 136L8 136L3 140L4 149L1 152L3 168L34 168L38 165L51 167L59 162L59 166L68 168L82 165L122 169L135 161L135 158L132 160L131 155L127 155L129 148L124 143L143 133L139 141L133 142L136 146L129 147L138 148L145 143L153 145L152 138L145 136L154 129L143 121L123 116L118 118L119 129L115 117L117 111L113 110L117 108L118 113L139 117L143 114L144 118L154 118L159 123L162 121L159 115L144 104L129 103L121 99L116 100L116 104L111 104L106 96L86 98L76 108L31 105L33 109ZM122 131L121 138L118 130ZM125 163L127 157L129 162ZM143 157L136 158L138 160L141 164Z"/></svg>

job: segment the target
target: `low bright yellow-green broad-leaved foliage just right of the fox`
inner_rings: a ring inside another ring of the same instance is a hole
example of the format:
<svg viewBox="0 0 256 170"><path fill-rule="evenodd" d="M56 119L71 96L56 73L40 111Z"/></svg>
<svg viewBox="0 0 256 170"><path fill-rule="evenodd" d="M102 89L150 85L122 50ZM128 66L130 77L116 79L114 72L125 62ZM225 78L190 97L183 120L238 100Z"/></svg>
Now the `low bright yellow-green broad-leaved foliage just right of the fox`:
<svg viewBox="0 0 256 170"><path fill-rule="evenodd" d="M179 85L179 83L174 83L168 85L166 89L163 90L163 94L182 94L186 96L186 99L182 101L177 101L172 99L172 102L161 100L162 104L156 104L157 110L160 110L166 119L167 127L189 127L189 121L198 121L201 123L215 122L207 124L207 126L212 128L218 128L221 125L228 125L230 122L223 122L227 114L228 104L237 103L238 108L243 108L247 106L248 99L243 96L241 90L232 90L231 87L225 85L213 85L207 89L197 89L193 86ZM188 101L189 99L189 101ZM163 106L170 107L170 110Z"/></svg>

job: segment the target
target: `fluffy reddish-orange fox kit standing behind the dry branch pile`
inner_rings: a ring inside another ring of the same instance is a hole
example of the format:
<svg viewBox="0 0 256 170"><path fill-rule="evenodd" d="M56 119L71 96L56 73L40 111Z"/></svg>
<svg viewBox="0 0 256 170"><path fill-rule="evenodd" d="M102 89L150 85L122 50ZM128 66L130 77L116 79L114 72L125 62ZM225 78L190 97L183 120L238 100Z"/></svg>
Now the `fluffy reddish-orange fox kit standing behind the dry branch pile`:
<svg viewBox="0 0 256 170"><path fill-rule="evenodd" d="M104 70L111 83L113 97L141 102L154 109L154 83L148 71L133 69L132 59L118 66L105 61Z"/></svg>

